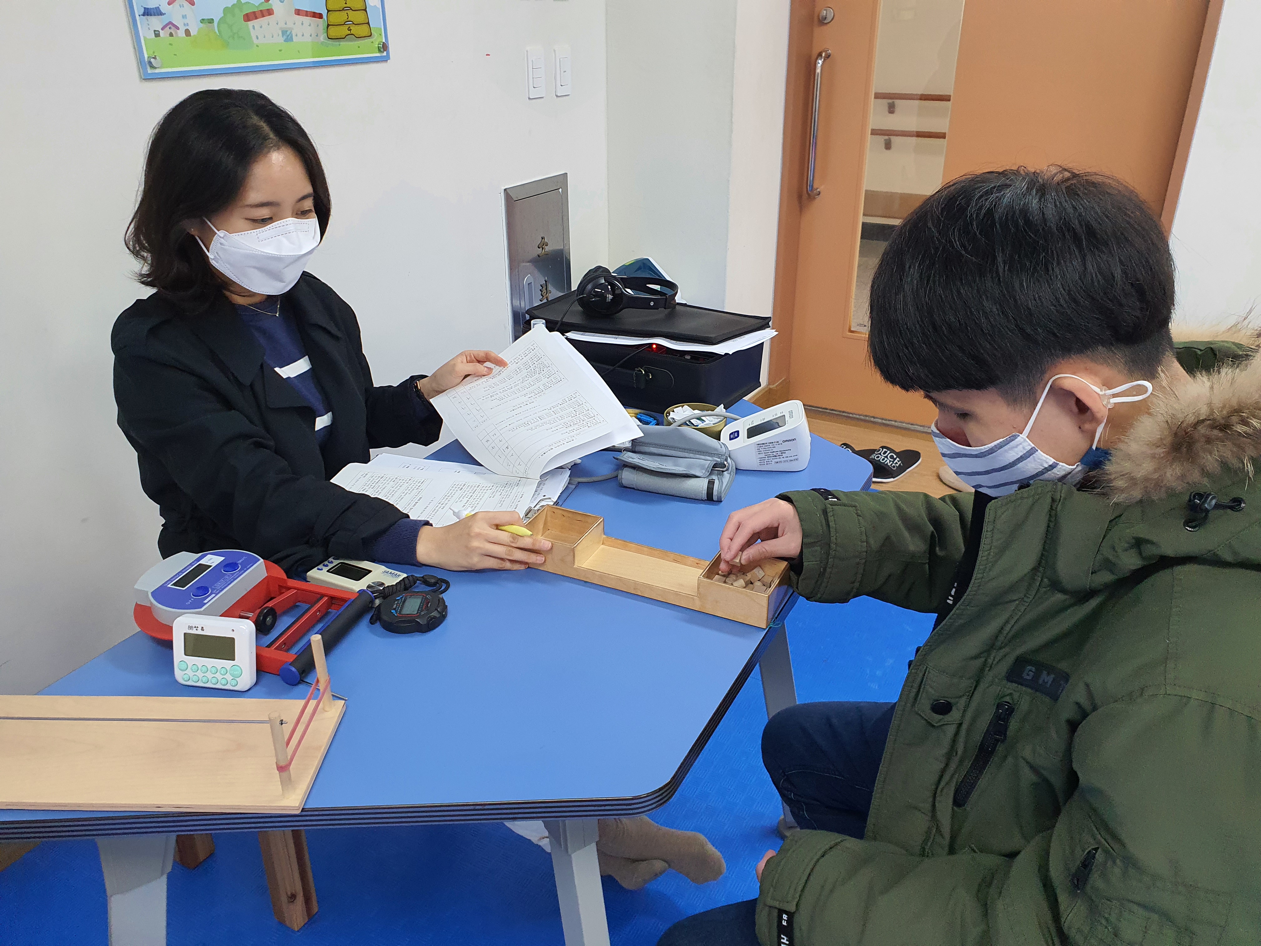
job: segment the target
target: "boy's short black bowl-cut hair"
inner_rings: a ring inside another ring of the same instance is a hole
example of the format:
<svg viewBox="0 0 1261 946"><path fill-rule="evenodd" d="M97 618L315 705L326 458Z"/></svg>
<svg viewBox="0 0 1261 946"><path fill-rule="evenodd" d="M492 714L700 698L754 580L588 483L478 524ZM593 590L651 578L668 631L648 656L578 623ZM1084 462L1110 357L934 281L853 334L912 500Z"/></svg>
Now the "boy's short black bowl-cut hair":
<svg viewBox="0 0 1261 946"><path fill-rule="evenodd" d="M869 347L905 391L1037 400L1088 356L1151 378L1173 351L1174 265L1130 187L1064 168L952 180L893 232L871 279Z"/></svg>

